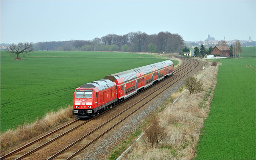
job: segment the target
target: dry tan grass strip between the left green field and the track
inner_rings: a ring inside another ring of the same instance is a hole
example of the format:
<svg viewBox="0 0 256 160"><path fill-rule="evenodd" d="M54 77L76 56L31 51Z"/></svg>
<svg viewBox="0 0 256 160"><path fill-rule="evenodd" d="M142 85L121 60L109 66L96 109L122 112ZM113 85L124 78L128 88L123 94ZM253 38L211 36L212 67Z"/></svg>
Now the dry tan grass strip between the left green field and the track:
<svg viewBox="0 0 256 160"><path fill-rule="evenodd" d="M48 112L42 119L1 133L1 153L74 118L72 106Z"/></svg>

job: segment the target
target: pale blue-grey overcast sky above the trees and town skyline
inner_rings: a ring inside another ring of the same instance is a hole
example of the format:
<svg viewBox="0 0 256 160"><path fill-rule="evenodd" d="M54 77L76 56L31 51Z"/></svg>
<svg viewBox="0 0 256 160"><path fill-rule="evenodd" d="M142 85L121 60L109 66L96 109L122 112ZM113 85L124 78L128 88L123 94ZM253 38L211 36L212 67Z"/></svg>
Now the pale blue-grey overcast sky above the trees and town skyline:
<svg viewBox="0 0 256 160"><path fill-rule="evenodd" d="M255 40L252 1L0 1L1 43L161 31L186 41Z"/></svg>

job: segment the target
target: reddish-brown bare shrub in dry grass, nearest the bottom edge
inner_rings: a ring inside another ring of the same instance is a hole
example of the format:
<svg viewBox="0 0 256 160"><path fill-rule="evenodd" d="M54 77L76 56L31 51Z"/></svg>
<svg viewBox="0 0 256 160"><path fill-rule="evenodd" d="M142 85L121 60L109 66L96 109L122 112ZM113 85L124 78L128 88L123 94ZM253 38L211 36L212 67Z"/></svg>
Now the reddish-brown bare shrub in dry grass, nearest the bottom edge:
<svg viewBox="0 0 256 160"><path fill-rule="evenodd" d="M149 142L151 148L154 148L166 139L167 131L164 126L160 125L160 120L156 116L150 119L149 124L152 125L149 128L148 126L144 128L145 140Z"/></svg>

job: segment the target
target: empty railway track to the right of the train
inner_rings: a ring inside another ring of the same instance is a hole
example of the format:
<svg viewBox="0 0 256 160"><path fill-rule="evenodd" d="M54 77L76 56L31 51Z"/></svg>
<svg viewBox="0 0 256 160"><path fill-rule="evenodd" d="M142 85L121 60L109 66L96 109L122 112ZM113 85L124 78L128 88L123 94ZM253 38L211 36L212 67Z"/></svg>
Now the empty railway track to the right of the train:
<svg viewBox="0 0 256 160"><path fill-rule="evenodd" d="M195 62L195 64L193 65L193 67L195 66L195 68L196 68L199 65L199 62L196 61L196 60L194 60L194 62ZM177 80L175 80L174 82L172 82L173 81L172 80L172 81L166 83L164 86L158 88L157 90L150 93L146 97L142 98L141 100L139 100L135 104L131 105L129 108L123 110L123 112L117 114L115 117L111 118L110 120L108 120L104 124L100 125L98 128L92 130L90 133L86 134L85 136L83 136L82 138L77 140L76 142L70 144L69 146L67 146L63 150L59 151L57 154L51 156L49 158L49 160L50 159L61 159L62 160L62 159L72 159L72 158L77 159L76 157L79 156L78 154L80 152L82 152L87 147L92 145L100 137L104 136L111 129L115 128L115 126L117 126L118 124L123 122L126 118L131 116L134 112L139 110L145 104L147 104L148 102L150 102L151 100L156 98L159 94L164 92L166 89L168 89L174 83L178 82L178 80L180 80L181 78L186 76L193 69L189 69L188 72L187 71L183 72L182 74L184 74L184 75L180 74L182 76L180 78L178 78Z"/></svg>

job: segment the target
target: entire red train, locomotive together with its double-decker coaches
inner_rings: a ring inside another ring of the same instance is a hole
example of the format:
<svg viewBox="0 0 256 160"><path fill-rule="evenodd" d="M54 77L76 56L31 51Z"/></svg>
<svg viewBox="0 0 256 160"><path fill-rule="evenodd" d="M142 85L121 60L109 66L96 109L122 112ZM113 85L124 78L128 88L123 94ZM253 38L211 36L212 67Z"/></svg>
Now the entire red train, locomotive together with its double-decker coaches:
<svg viewBox="0 0 256 160"><path fill-rule="evenodd" d="M173 73L173 62L166 60L86 83L74 92L73 115L95 116Z"/></svg>

